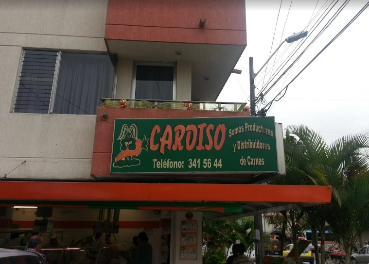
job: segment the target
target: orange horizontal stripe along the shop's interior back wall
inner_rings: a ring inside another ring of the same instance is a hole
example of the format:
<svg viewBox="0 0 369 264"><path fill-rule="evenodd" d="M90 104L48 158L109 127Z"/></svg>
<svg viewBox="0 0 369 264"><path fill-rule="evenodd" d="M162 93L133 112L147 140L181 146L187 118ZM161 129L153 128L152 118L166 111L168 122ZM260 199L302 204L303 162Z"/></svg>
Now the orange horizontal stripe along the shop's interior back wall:
<svg viewBox="0 0 369 264"><path fill-rule="evenodd" d="M33 228L34 221L13 221L13 224L18 224L19 229ZM63 229L91 229L96 221L55 221L54 228ZM120 221L117 223L120 228L159 228L160 221ZM0 222L1 227L1 222Z"/></svg>

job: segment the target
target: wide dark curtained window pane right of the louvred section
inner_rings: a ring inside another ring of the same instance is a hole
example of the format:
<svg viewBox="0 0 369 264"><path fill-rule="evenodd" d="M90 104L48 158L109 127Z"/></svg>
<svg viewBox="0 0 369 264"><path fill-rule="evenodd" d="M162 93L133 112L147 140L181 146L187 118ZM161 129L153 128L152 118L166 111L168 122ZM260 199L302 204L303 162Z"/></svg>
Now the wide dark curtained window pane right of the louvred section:
<svg viewBox="0 0 369 264"><path fill-rule="evenodd" d="M100 98L112 97L115 57L62 53L53 113L96 115Z"/></svg>

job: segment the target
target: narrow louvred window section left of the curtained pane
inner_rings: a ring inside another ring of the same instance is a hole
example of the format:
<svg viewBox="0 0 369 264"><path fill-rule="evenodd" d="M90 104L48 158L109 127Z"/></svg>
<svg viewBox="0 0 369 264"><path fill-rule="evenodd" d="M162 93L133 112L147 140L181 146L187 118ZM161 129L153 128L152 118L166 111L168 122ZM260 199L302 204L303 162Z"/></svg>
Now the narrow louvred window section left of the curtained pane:
<svg viewBox="0 0 369 264"><path fill-rule="evenodd" d="M47 114L58 51L24 50L14 112Z"/></svg>

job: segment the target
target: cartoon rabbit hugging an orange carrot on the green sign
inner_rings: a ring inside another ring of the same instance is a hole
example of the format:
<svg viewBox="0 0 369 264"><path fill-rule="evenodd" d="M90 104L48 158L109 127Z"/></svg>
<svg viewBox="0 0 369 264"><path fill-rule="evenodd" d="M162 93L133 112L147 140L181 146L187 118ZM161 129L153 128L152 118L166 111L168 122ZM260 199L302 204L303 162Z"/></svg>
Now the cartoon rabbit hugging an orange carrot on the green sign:
<svg viewBox="0 0 369 264"><path fill-rule="evenodd" d="M121 134L117 139L121 141L121 153L115 157L113 167L123 168L141 164L141 161L134 157L139 156L142 149L149 151L149 138L146 138L146 135L144 135L141 140L138 138L137 134L136 124L132 124L129 129L127 124L122 126Z"/></svg>

